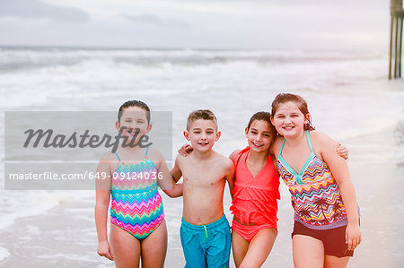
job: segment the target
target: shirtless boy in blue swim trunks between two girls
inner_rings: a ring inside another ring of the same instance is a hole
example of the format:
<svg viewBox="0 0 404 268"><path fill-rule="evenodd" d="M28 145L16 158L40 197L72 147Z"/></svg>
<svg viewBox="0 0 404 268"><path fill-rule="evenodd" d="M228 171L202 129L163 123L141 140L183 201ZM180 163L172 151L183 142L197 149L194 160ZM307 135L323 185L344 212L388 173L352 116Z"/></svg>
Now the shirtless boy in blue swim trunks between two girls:
<svg viewBox="0 0 404 268"><path fill-rule="evenodd" d="M229 267L231 235L223 195L226 180L233 191L234 168L212 149L220 134L210 110L191 112L184 136L194 150L187 157L179 155L171 170L176 180L183 177L180 238L186 268Z"/></svg>

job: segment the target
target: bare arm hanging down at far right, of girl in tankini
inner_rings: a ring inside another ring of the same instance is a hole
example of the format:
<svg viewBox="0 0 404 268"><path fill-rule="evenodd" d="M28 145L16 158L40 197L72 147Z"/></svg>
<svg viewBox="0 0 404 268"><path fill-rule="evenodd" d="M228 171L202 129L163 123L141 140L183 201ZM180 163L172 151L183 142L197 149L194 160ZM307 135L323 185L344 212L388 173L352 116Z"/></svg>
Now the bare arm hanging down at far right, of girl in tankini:
<svg viewBox="0 0 404 268"><path fill-rule="evenodd" d="M353 250L361 242L359 229L359 216L356 207L356 193L350 179L347 161L337 154L338 143L333 141L326 134L317 133L319 144L321 144L321 156L329 165L332 176L335 178L341 193L342 201L347 210L346 240L348 249Z"/></svg>

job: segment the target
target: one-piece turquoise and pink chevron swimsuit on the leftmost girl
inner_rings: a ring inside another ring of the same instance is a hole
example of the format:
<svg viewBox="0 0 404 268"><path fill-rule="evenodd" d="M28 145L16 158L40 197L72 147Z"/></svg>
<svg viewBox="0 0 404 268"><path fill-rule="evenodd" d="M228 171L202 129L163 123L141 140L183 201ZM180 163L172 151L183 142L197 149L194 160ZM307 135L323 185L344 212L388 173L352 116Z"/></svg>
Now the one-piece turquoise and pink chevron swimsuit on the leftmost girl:
<svg viewBox="0 0 404 268"><path fill-rule="evenodd" d="M164 220L162 196L157 180L152 179L157 168L147 158L148 149L145 159L136 164L125 164L115 152L119 166L110 187L110 222L139 240L147 238Z"/></svg>

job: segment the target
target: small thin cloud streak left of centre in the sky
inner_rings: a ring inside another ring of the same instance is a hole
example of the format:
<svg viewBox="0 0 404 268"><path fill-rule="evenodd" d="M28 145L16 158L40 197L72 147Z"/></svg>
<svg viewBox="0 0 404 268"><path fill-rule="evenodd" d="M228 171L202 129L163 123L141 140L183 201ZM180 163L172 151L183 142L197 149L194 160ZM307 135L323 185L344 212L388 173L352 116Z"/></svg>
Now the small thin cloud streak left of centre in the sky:
<svg viewBox="0 0 404 268"><path fill-rule="evenodd" d="M120 16L122 18L127 19L130 22L136 22L143 25L168 26L184 30L191 28L191 25L188 22L178 20L163 20L153 14L141 14L141 15L120 14Z"/></svg>

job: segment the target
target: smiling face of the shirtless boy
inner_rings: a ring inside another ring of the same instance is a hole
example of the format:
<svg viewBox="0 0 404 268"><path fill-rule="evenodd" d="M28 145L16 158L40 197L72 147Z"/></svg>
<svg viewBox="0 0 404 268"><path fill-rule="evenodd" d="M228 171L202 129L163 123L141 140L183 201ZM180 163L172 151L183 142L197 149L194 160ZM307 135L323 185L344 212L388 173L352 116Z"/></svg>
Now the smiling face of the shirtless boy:
<svg viewBox="0 0 404 268"><path fill-rule="evenodd" d="M220 131L213 120L197 119L184 131L185 138L196 151L209 151L219 140Z"/></svg>

